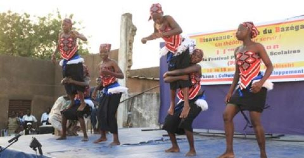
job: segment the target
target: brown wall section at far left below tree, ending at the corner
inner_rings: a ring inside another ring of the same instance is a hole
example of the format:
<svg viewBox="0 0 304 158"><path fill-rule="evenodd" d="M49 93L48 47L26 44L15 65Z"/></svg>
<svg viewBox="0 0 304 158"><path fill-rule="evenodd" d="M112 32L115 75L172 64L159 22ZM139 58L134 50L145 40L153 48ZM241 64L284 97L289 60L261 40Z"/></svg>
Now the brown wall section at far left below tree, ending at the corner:
<svg viewBox="0 0 304 158"><path fill-rule="evenodd" d="M51 61L0 55L0 75L0 129L6 127L10 99L32 100L32 114L40 121L42 112L54 103Z"/></svg>

